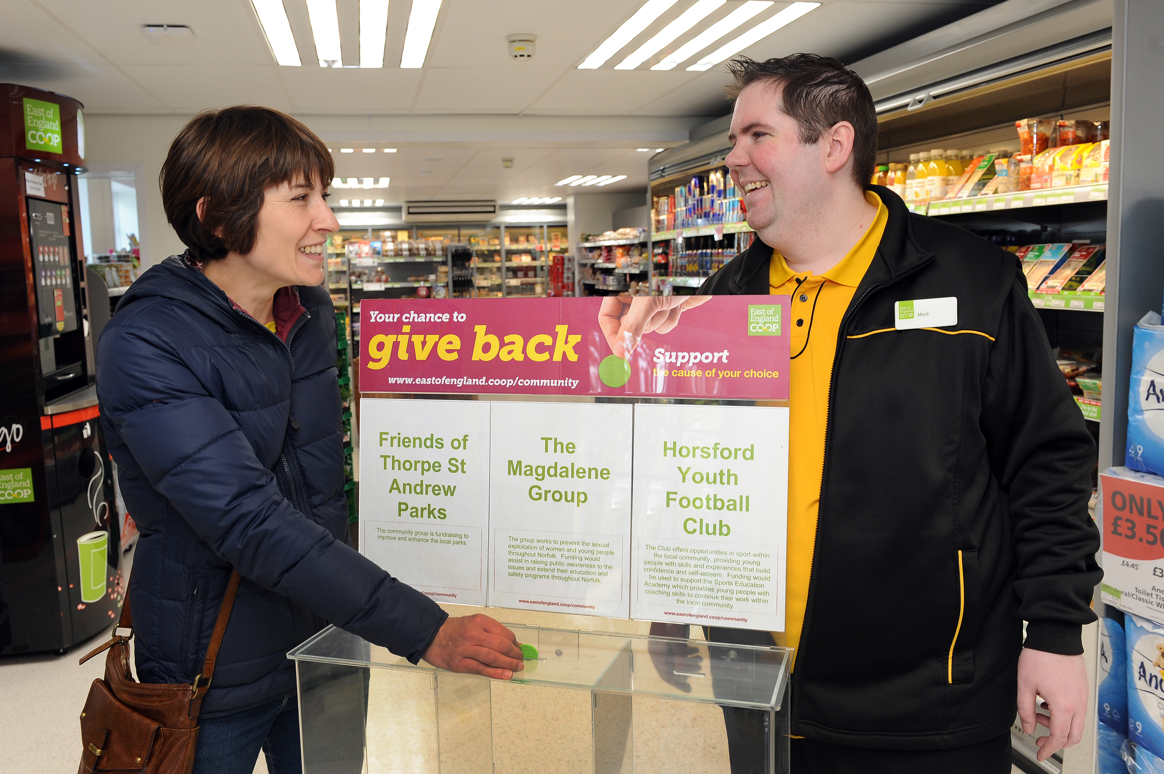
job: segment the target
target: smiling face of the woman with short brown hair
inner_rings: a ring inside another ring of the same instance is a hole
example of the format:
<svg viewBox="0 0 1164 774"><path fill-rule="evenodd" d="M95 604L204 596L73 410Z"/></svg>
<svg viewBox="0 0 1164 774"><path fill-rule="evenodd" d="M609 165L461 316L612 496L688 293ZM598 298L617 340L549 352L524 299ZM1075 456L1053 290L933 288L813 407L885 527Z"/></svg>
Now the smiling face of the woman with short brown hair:
<svg viewBox="0 0 1164 774"><path fill-rule="evenodd" d="M244 260L278 286L324 282L327 235L339 230L327 190L298 179L267 189L255 247Z"/></svg>

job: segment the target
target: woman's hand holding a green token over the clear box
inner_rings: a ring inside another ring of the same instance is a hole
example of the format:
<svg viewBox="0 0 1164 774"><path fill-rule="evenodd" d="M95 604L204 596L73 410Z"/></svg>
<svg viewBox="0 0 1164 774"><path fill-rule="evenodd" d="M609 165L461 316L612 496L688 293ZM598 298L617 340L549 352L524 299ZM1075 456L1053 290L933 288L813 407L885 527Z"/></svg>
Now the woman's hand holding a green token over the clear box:
<svg viewBox="0 0 1164 774"><path fill-rule="evenodd" d="M441 669L495 680L509 680L525 669L513 632L481 613L447 618L420 658Z"/></svg>

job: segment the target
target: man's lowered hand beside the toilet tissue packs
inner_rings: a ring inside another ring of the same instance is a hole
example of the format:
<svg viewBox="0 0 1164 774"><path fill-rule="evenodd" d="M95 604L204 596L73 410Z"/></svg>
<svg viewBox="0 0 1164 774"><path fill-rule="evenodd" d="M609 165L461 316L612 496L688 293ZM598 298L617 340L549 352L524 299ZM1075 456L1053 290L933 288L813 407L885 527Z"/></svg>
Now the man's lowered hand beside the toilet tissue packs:
<svg viewBox="0 0 1164 774"><path fill-rule="evenodd" d="M1038 713L1036 696L1043 697L1042 709L1051 713L1050 720ZM1018 656L1018 719L1022 730L1035 733L1035 724L1048 729L1050 736L1037 740L1038 760L1079 744L1084 737L1084 712L1087 708L1087 669L1081 655L1059 655L1023 648Z"/></svg>

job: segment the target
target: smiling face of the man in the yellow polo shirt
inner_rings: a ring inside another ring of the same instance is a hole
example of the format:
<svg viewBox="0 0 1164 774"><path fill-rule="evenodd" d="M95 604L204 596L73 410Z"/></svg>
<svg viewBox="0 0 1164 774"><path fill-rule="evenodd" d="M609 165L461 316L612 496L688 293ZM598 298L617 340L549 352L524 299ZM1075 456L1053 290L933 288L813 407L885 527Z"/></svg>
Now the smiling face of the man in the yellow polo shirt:
<svg viewBox="0 0 1164 774"><path fill-rule="evenodd" d="M801 143L796 121L780 109L779 85L757 81L739 93L729 140L725 164L744 192L747 223L761 239L812 211L828 178L825 143Z"/></svg>

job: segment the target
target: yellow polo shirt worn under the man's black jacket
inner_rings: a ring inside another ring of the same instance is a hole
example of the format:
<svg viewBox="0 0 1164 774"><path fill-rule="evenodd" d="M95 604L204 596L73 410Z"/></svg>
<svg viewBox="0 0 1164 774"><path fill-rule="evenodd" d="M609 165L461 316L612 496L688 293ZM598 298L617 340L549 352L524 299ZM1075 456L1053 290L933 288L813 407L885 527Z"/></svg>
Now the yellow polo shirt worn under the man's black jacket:
<svg viewBox="0 0 1164 774"><path fill-rule="evenodd" d="M889 211L873 192L865 199L878 208L865 235L840 263L821 276L794 272L785 256L772 251L768 293L792 296L788 427L788 567L785 631L773 632L776 645L797 647L804 627L816 519L824 473L824 431L829 421L832 358L840 319L857 286L873 263ZM797 286L796 281L802 281ZM815 305L815 311L814 311ZM811 335L809 332L811 331ZM800 353L797 355L797 353ZM795 663L795 661L794 661Z"/></svg>

